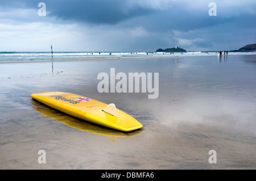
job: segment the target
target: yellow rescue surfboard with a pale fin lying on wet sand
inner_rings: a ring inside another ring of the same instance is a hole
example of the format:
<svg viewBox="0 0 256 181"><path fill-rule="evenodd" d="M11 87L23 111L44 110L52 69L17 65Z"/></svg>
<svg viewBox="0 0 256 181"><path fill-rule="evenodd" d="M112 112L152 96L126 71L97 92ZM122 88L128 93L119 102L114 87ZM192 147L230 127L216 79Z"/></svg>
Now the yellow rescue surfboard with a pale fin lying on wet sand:
<svg viewBox="0 0 256 181"><path fill-rule="evenodd" d="M61 112L118 131L134 131L142 124L127 113L98 100L67 92L42 92L31 97Z"/></svg>

